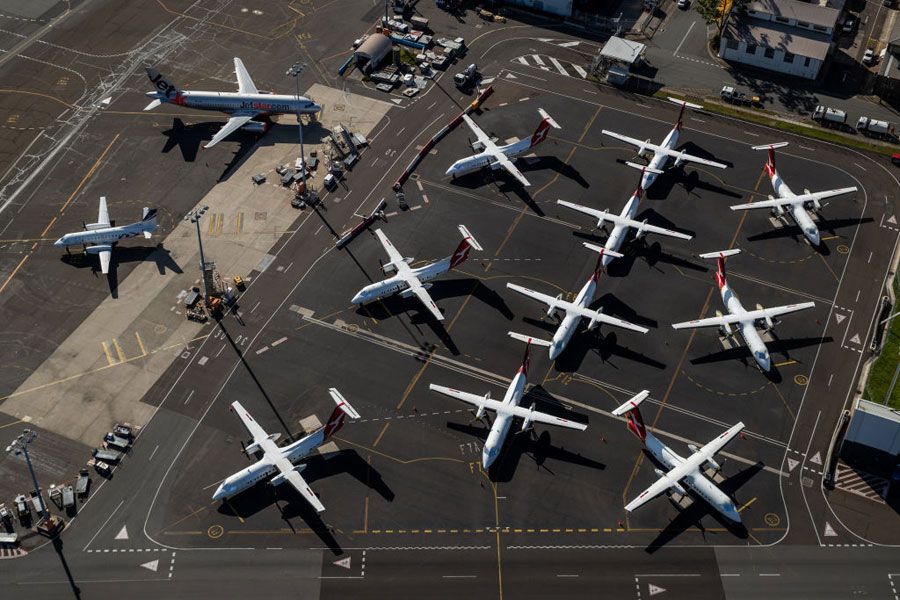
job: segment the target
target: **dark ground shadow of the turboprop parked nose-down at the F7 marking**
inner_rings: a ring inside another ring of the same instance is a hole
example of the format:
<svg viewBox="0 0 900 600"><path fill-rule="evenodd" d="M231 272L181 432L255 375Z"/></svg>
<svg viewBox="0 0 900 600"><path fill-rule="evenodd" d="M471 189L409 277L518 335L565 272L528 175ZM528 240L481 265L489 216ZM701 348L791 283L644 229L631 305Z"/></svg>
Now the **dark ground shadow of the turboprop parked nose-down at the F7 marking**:
<svg viewBox="0 0 900 600"><path fill-rule="evenodd" d="M532 403L535 410L565 417L567 419L579 422L586 422L587 419L582 415L565 411L562 404L553 398L550 394L543 390L540 386L532 387L519 402L519 406L530 407ZM485 415L488 423L493 415ZM495 483L506 483L512 480L518 469L519 462L523 455L527 455L534 461L536 469L544 469L551 475L553 470L546 465L547 459L559 460L574 465L589 467L591 469L603 470L606 468L604 463L587 458L576 452L570 452L562 446L555 446L552 443L551 434L544 430L537 434L534 428L528 431L521 431L522 421L516 419L510 427L509 434L506 436L506 442L500 452L497 460L488 467L488 477ZM471 435L482 440L487 438L490 426L487 423L454 423L447 422L447 428L466 435ZM578 435L581 432L572 432Z"/></svg>

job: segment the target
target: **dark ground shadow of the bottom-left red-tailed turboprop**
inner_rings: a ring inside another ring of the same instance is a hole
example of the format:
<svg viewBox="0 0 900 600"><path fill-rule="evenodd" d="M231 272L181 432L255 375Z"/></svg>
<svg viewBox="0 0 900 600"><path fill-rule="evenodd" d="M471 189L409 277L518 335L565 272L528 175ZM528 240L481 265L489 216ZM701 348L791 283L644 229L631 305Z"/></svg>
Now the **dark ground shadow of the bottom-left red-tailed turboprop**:
<svg viewBox="0 0 900 600"><path fill-rule="evenodd" d="M374 467L368 464L356 450L339 450L324 456L312 456L303 461L306 468L303 478L312 485L319 479L329 478L346 473L357 481L375 490L388 502L394 501L394 492ZM317 494L318 495L318 494ZM324 501L327 504L327 500ZM316 513L310 504L289 485L272 486L268 482L257 485L232 496L228 502L219 505L218 512L227 516L248 518L272 505L281 513L281 518L292 530L296 531L291 519L299 517L325 543L335 555L343 554L340 544L334 537L333 529Z"/></svg>

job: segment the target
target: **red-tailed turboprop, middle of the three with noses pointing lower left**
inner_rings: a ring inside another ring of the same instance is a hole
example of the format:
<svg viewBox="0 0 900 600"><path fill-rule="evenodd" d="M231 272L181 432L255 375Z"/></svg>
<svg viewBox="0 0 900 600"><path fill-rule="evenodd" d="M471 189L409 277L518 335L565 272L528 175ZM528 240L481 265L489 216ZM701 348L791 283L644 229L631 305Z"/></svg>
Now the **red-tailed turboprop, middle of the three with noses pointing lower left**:
<svg viewBox="0 0 900 600"><path fill-rule="evenodd" d="M475 241L475 238L472 237L472 234L469 233L469 230L466 229L465 225L460 225L459 231L462 233L463 240L459 243L459 246L456 247L456 250L453 251L453 254L429 265L411 269L409 263L411 263L413 259L401 256L400 253L397 252L397 249L394 248L391 241L387 239L387 236L384 235L380 229L376 229L375 235L378 236L378 241L384 246L388 258L390 258L389 262L386 262L381 266L381 270L384 271L385 274L396 273L396 275L367 285L353 296L351 302L353 302L353 304L362 305L366 302L378 300L399 292L400 296L403 298L415 296L425 305L425 308L434 315L435 319L443 321L444 315L441 314L441 311L438 310L434 300L428 295L427 290L431 287L431 284L425 282L434 279L439 275L443 275L450 269L458 267L463 261L469 258L469 250L471 248L475 248L478 251L483 249L478 242Z"/></svg>

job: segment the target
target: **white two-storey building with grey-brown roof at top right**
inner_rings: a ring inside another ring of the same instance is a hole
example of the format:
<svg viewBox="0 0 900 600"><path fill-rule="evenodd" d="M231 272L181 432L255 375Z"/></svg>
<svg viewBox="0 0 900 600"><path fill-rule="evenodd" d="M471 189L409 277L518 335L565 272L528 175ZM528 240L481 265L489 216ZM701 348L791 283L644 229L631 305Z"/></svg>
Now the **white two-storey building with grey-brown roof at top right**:
<svg viewBox="0 0 900 600"><path fill-rule="evenodd" d="M831 51L840 11L800 0L755 0L722 32L719 57L816 79Z"/></svg>

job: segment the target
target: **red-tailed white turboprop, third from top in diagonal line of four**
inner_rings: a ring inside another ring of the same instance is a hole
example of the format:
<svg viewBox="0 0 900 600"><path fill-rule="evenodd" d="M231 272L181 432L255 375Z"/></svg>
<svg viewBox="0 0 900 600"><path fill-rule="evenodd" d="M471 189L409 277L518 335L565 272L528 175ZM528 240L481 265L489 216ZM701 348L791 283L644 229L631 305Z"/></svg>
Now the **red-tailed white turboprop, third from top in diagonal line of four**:
<svg viewBox="0 0 900 600"><path fill-rule="evenodd" d="M549 346L550 360L555 360L556 357L562 354L562 351L566 349L566 345L569 343L569 340L572 339L572 335L574 335L575 330L578 328L578 324L581 322L582 317L590 319L590 321L588 322L588 331L596 327L598 323L615 325L616 327L630 329L631 331L639 331L641 333L647 333L647 331L649 331L646 327L641 327L640 325L635 325L622 319L610 317L609 315L603 314L603 312L601 312L600 310L591 310L590 308L588 308L591 302L594 301L594 291L596 291L597 289L597 281L600 279L600 271L603 270L603 257L606 255L610 255L619 258L622 255L617 252L611 252L606 248L601 248L600 246L589 244L587 242L584 242L584 246L585 248L589 248L595 252L598 252L599 256L597 256L597 266L594 268L594 272L584 284L584 287L581 288L581 291L578 292L578 295L575 296L574 302L563 300L562 294L559 294L554 298L553 296L535 292L534 290L530 290L514 283L506 284L506 287L513 290L514 292L518 292L524 296L534 298L538 302L543 302L544 304L546 304L548 306L548 317L552 317L556 313L557 309L565 311L566 316L563 317L562 321L560 321L559 327L556 329L556 333L553 334L553 341L537 341L532 338L534 343L536 344L540 344L541 346Z"/></svg>

